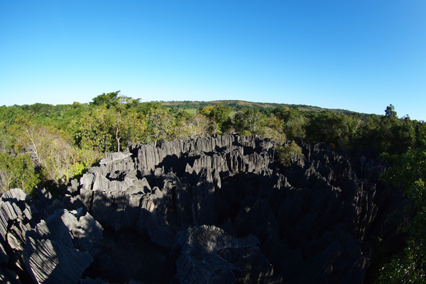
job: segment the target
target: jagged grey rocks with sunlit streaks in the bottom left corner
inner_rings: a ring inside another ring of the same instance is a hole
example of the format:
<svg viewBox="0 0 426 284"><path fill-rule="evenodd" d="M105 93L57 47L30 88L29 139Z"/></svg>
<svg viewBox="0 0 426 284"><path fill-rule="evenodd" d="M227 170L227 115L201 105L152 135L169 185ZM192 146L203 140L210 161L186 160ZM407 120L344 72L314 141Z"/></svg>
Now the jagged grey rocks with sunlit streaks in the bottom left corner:
<svg viewBox="0 0 426 284"><path fill-rule="evenodd" d="M0 259L9 272L1 273L1 280L6 283L77 283L92 263L102 226L82 208L48 214L46 205L19 189L1 196Z"/></svg>

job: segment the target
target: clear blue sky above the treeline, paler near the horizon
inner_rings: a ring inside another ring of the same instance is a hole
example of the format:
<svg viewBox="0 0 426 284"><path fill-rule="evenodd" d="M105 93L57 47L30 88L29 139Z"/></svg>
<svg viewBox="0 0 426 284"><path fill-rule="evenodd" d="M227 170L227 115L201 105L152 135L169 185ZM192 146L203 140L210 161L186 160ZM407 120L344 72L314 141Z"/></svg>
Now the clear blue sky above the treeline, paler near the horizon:
<svg viewBox="0 0 426 284"><path fill-rule="evenodd" d="M117 90L426 120L426 1L0 1L0 105Z"/></svg>

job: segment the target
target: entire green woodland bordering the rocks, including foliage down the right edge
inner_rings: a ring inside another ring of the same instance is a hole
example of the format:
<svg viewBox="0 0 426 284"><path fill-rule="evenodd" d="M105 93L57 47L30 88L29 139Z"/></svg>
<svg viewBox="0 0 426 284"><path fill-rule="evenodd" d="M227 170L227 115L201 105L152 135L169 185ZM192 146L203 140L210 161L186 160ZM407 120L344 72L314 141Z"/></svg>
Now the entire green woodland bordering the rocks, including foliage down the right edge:
<svg viewBox="0 0 426 284"><path fill-rule="evenodd" d="M377 253L371 278L379 283L412 283L425 274L426 124L383 115L316 107L248 102L139 102L111 92L89 104L32 104L0 107L0 191L20 187L66 186L104 153L125 151L129 143L161 143L214 133L259 135L277 141L278 160L290 166L300 141L324 141L345 151L368 151L388 165L383 182L410 200L400 228L405 249L396 256ZM378 247L386 244L377 241ZM378 249L376 250L378 251ZM393 281L393 282L392 282Z"/></svg>

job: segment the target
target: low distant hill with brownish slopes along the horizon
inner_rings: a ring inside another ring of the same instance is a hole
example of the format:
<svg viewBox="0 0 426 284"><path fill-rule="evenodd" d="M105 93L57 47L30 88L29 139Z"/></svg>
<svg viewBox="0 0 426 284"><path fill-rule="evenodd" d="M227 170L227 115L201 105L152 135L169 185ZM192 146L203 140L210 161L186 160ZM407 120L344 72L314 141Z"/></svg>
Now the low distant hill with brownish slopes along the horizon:
<svg viewBox="0 0 426 284"><path fill-rule="evenodd" d="M160 102L164 107L178 107L180 109L199 109L202 107L207 107L214 104L225 104L231 107L234 111L239 111L241 109L275 109L277 107L288 107L288 108L297 108L300 111L307 112L321 112L321 111L332 111L342 114L358 114L355 111L348 111L346 109L324 109L322 107L313 107L306 104L275 104L275 103L264 103L264 102L246 102L239 100L217 100L210 102L201 102L201 101L169 101L169 102Z"/></svg>

